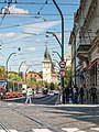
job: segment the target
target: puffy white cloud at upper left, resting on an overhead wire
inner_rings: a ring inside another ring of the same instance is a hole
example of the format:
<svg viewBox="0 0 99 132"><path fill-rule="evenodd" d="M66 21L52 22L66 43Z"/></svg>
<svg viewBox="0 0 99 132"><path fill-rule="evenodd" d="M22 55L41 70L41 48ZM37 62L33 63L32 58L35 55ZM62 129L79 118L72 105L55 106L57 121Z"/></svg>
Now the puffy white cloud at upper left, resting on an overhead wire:
<svg viewBox="0 0 99 132"><path fill-rule="evenodd" d="M10 13L29 13L28 10L16 8L15 4L10 7Z"/></svg>

